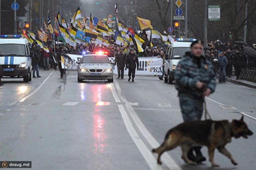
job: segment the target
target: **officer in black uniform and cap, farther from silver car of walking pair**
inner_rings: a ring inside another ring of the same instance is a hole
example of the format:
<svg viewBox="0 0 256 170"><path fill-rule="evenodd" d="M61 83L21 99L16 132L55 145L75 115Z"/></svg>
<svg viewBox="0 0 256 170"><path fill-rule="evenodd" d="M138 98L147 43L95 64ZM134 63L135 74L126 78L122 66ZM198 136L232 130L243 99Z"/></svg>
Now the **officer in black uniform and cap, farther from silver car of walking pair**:
<svg viewBox="0 0 256 170"><path fill-rule="evenodd" d="M128 69L129 69L128 81L131 80L131 76L132 76L132 81L134 81L135 69L136 69L136 67L137 67L137 69L139 68L139 59L138 59L137 55L134 53L134 49L131 49L129 55L127 56L126 64L128 65Z"/></svg>

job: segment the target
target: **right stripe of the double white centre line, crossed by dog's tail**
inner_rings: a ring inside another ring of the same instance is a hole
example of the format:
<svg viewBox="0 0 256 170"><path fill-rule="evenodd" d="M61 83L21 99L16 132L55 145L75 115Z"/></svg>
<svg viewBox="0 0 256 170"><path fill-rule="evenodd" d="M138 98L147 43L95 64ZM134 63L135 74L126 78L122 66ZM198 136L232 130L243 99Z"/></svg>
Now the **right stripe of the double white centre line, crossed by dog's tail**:
<svg viewBox="0 0 256 170"><path fill-rule="evenodd" d="M133 121L135 122L136 126L140 130L141 134L147 140L147 142L151 145L151 147L155 148L158 147L160 144L155 140L155 138L148 132L142 121L139 119L137 113L133 110L132 106L128 103L127 99L124 97L124 94L121 91L121 88L114 79L114 85L116 86L117 92L120 95L121 100L126 103L125 106L128 109L128 113L132 116ZM136 132L136 131L135 131ZM152 153L150 153L152 155ZM165 165L171 170L182 170L180 166L177 165L176 162L168 155L166 152L161 157L162 161ZM155 159L155 164L157 165L157 160Z"/></svg>

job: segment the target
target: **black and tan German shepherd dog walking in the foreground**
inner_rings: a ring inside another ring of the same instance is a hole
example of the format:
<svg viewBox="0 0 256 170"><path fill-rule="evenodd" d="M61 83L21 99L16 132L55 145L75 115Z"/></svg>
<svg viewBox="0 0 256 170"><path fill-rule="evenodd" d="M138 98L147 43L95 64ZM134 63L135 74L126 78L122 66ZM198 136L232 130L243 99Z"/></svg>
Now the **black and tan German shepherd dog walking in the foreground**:
<svg viewBox="0 0 256 170"><path fill-rule="evenodd" d="M213 160L215 148L227 156L234 165L237 165L237 162L225 146L231 142L232 137L240 138L242 136L247 139L248 135L253 135L253 132L249 130L243 119L244 116L240 120L232 120L231 123L228 120L198 120L181 123L170 129L161 146L153 149L152 152L158 154L157 163L162 164L160 157L163 152L181 146L181 158L191 165L196 165L196 162L188 159L188 151L192 145L207 146L212 167L219 166Z"/></svg>

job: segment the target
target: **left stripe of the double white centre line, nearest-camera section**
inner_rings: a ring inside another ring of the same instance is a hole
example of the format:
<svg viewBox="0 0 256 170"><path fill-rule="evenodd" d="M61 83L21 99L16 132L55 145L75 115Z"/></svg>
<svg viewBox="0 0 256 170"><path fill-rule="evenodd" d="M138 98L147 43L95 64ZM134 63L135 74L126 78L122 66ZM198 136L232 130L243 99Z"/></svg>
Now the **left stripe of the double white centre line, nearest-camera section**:
<svg viewBox="0 0 256 170"><path fill-rule="evenodd" d="M119 111L123 118L125 127L131 136L133 142L137 146L138 150L144 157L145 161L147 162L148 166L151 170L162 170L162 167L157 165L155 157L152 155L150 150L147 148L146 144L142 141L138 133L136 132L135 128L133 127L131 120L129 119L127 112L124 109L123 105L118 105Z"/></svg>

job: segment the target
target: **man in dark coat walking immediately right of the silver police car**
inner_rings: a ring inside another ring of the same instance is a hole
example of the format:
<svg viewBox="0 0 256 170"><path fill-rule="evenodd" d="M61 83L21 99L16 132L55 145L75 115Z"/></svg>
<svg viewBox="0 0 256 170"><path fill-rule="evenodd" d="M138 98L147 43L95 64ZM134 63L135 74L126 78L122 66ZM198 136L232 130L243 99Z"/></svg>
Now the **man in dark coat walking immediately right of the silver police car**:
<svg viewBox="0 0 256 170"><path fill-rule="evenodd" d="M115 62L117 63L117 73L118 73L117 78L120 78L120 73L121 73L121 79L124 79L125 58L126 58L126 54L124 53L124 48L121 47L115 58Z"/></svg>

